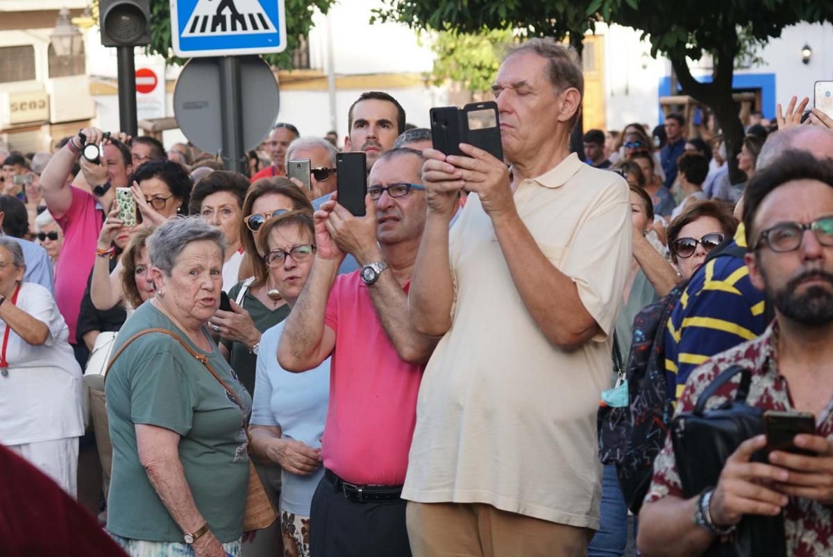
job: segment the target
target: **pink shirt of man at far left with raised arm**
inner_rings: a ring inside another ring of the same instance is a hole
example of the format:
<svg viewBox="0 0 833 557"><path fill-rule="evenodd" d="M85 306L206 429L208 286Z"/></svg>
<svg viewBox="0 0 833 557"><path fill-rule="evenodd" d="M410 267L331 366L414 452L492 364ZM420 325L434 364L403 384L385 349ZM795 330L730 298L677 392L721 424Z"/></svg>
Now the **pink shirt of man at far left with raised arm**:
<svg viewBox="0 0 833 557"><path fill-rule="evenodd" d="M69 187L72 204L67 212L55 219L63 230L63 246L55 262L55 301L69 326L69 342L75 344L81 299L96 259L98 234L102 231L104 217L103 211L96 209L96 198L92 193Z"/></svg>

